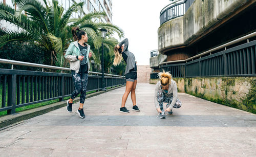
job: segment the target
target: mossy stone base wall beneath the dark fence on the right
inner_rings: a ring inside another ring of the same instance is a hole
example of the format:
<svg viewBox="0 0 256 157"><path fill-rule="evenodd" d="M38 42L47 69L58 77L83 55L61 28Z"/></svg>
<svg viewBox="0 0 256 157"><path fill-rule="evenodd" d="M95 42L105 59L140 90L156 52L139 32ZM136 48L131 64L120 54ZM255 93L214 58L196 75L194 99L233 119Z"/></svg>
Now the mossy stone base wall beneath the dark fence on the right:
<svg viewBox="0 0 256 157"><path fill-rule="evenodd" d="M159 79L151 79L156 83ZM175 78L179 92L256 114L256 77Z"/></svg>

